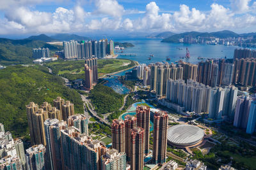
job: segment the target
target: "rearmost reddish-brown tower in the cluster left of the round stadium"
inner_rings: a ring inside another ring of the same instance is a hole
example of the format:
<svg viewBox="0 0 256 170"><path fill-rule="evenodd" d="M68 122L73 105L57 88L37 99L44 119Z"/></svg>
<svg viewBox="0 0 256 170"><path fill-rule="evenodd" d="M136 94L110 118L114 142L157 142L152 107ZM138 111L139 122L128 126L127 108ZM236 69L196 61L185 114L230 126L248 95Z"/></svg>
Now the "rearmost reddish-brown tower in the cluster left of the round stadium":
<svg viewBox="0 0 256 170"><path fill-rule="evenodd" d="M137 126L144 129L144 150L148 154L149 132L150 132L150 108L148 106L137 106L136 108Z"/></svg>

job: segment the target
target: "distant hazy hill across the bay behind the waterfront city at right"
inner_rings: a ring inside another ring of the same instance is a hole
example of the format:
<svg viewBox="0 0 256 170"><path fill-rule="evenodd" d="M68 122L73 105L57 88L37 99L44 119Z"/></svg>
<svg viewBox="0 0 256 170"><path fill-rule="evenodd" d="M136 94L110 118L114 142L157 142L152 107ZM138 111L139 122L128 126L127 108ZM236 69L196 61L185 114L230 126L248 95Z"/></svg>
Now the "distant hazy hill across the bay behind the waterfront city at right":
<svg viewBox="0 0 256 170"><path fill-rule="evenodd" d="M236 34L236 32L232 31L218 31L218 32L184 32L181 34L174 34L173 36L170 36L168 38L164 38L161 42L165 43L179 43L180 38L184 38L185 36L192 36L193 38L200 37L216 37L216 38L230 38L230 37L237 37L239 34Z"/></svg>

